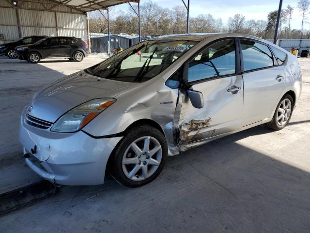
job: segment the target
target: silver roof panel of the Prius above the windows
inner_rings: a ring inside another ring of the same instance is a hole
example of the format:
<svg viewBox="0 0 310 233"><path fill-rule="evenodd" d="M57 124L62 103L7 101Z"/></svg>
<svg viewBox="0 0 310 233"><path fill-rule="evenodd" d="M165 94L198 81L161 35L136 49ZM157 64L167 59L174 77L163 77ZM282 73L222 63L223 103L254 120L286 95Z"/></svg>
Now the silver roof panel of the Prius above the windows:
<svg viewBox="0 0 310 233"><path fill-rule="evenodd" d="M238 36L238 37L247 37L257 40L262 40L259 37L240 34L240 33L189 33L189 34L171 34L171 35L162 35L158 37L154 37L152 39L173 39L173 40L193 40L193 41L202 41L210 36L223 35L223 37L227 36Z"/></svg>

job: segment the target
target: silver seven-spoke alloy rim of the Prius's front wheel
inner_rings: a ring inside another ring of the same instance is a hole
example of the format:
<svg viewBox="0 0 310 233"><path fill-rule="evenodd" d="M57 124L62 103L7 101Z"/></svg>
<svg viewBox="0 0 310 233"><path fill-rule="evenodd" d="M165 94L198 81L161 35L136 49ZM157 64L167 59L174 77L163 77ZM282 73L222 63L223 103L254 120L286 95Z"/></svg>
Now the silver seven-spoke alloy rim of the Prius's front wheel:
<svg viewBox="0 0 310 233"><path fill-rule="evenodd" d="M151 136L143 136L125 150L122 168L125 176L133 181L143 181L154 174L162 159L160 143Z"/></svg>

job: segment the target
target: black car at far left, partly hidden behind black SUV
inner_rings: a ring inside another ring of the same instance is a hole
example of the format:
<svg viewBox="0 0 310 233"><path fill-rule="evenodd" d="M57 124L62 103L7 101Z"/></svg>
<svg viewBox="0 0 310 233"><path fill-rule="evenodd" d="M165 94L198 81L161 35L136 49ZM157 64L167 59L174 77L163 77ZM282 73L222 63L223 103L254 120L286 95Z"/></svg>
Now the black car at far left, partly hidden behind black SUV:
<svg viewBox="0 0 310 233"><path fill-rule="evenodd" d="M16 46L34 44L35 42L47 37L46 35L31 35L19 38L11 43L0 44L0 53L8 56L9 58L16 58L18 56L15 50Z"/></svg>

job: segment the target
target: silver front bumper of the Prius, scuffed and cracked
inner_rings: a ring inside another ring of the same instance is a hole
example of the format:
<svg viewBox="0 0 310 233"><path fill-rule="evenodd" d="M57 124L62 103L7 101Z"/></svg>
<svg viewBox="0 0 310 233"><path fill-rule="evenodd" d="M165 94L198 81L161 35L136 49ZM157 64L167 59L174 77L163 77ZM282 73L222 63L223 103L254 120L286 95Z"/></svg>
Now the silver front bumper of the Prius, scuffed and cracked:
<svg viewBox="0 0 310 233"><path fill-rule="evenodd" d="M109 156L122 137L93 138L82 131L54 133L39 129L25 123L26 109L21 116L19 140L33 171L57 184L104 183Z"/></svg>

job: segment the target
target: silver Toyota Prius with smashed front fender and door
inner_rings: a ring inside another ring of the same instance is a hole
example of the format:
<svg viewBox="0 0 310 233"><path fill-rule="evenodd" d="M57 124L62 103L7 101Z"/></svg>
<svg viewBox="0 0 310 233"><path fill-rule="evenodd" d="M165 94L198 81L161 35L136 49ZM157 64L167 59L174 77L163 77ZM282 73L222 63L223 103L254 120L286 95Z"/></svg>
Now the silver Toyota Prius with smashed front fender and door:
<svg viewBox="0 0 310 233"><path fill-rule="evenodd" d="M167 156L260 124L283 129L301 88L297 58L266 40L161 36L36 93L19 139L28 166L52 183L102 184L109 170L138 187Z"/></svg>

